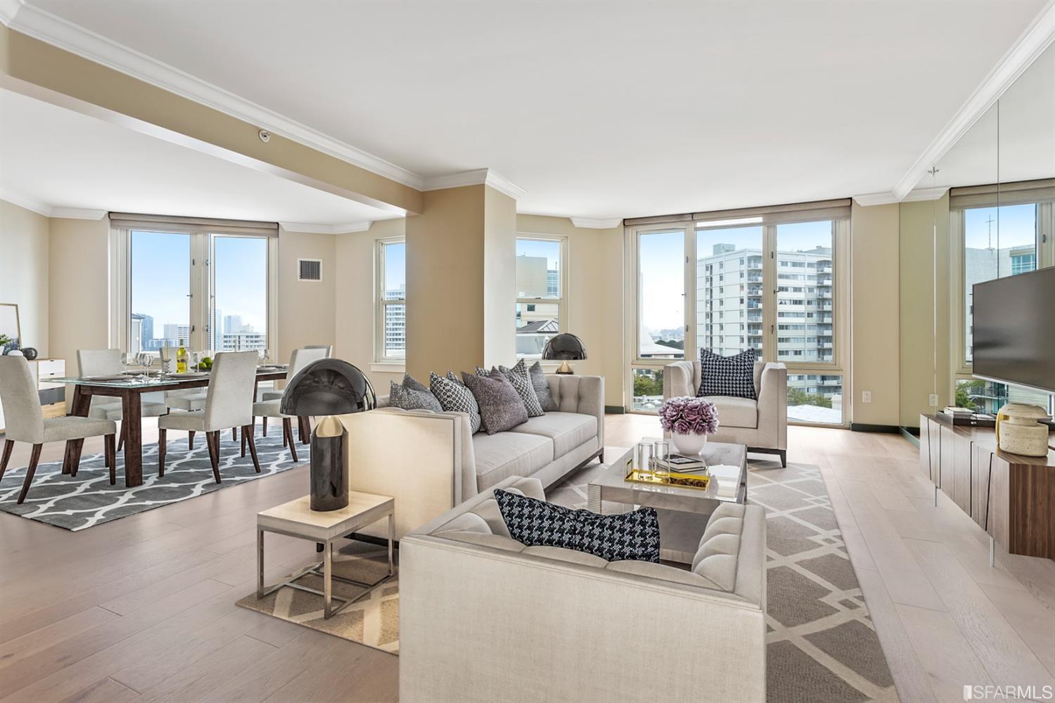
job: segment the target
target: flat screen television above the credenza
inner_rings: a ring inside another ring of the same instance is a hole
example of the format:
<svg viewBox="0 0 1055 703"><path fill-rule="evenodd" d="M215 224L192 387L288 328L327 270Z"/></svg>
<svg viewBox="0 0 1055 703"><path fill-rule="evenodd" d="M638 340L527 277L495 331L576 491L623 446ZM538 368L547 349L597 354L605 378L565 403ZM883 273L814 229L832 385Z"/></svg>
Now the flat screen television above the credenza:
<svg viewBox="0 0 1055 703"><path fill-rule="evenodd" d="M975 284L974 373L1055 392L1055 268Z"/></svg>

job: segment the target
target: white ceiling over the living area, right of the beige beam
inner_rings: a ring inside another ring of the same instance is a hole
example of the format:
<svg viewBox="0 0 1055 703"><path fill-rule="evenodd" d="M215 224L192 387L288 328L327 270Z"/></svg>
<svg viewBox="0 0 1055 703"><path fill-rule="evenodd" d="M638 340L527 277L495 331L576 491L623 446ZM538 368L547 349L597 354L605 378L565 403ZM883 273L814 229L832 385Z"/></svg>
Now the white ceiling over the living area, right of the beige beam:
<svg viewBox="0 0 1055 703"><path fill-rule="evenodd" d="M382 159L490 168L521 212L889 191L1044 6L31 0Z"/></svg>

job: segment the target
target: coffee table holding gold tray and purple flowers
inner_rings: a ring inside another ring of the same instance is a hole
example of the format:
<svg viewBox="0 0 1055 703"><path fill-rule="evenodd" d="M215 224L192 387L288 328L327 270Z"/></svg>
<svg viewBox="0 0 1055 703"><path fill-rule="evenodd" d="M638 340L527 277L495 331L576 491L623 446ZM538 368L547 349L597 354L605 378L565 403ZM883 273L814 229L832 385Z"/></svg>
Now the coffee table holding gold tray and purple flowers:
<svg viewBox="0 0 1055 703"><path fill-rule="evenodd" d="M644 437L654 442L658 437ZM663 559L691 563L707 526L707 519L723 503L744 503L747 500L747 447L744 445L708 442L704 447L710 482L705 490L641 484L626 481L634 467L633 447L606 447L611 457L607 468L587 486L587 507L602 512L624 512L634 506L655 508L659 514L659 553Z"/></svg>

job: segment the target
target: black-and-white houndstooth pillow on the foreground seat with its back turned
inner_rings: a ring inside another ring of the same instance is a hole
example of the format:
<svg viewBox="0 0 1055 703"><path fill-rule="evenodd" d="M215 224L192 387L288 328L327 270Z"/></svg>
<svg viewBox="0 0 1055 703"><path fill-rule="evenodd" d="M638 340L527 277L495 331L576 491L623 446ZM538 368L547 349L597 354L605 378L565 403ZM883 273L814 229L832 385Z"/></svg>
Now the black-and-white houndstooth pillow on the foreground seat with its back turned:
<svg viewBox="0 0 1055 703"><path fill-rule="evenodd" d="M495 501L510 536L529 546L575 549L610 562L659 561L659 516L653 508L598 515L501 489Z"/></svg>

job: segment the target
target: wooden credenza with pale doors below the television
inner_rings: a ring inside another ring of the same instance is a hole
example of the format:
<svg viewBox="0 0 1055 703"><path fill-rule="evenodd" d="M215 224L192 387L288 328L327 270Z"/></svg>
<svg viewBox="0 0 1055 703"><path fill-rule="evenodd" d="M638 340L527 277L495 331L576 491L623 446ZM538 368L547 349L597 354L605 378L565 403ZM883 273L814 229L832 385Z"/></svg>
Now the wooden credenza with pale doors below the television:
<svg viewBox="0 0 1055 703"><path fill-rule="evenodd" d="M1055 450L1012 454L993 428L920 415L920 471L1006 551L1055 560Z"/></svg>

